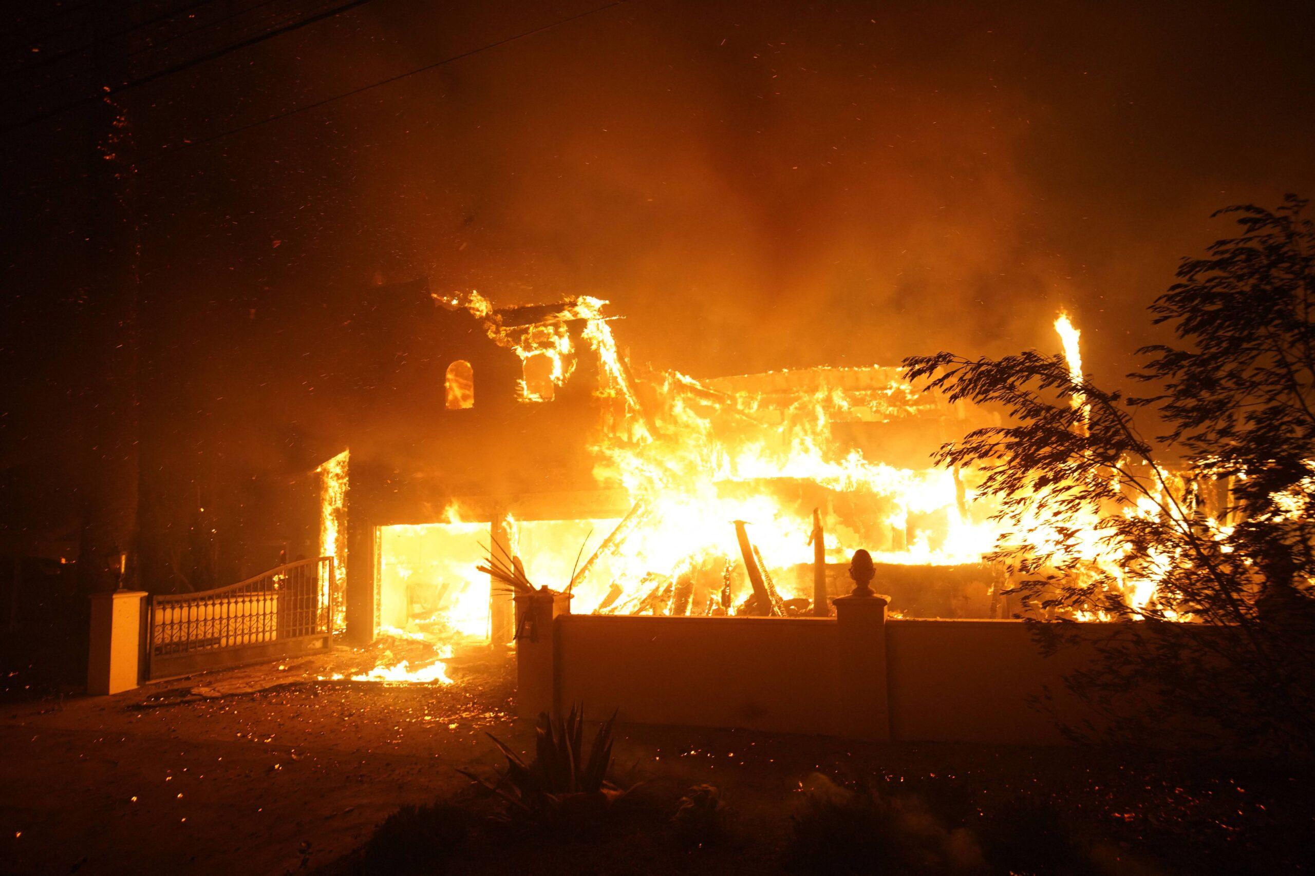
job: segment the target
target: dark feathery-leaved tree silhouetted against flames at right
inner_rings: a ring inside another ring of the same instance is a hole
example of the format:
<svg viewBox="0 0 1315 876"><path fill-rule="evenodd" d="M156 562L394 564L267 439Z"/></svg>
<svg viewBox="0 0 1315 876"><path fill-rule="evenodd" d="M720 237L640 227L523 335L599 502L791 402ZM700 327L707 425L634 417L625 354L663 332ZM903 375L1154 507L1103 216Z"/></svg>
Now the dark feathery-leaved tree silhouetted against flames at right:
<svg viewBox="0 0 1315 876"><path fill-rule="evenodd" d="M1066 678L1101 732L1311 753L1315 743L1315 223L1287 196L1236 206L1241 232L1185 259L1151 306L1174 345L1139 351L1128 398L1035 351L905 360L1009 424L939 450L998 502L994 558L1043 647L1086 644ZM1216 215L1219 215L1216 214ZM1148 437L1135 414L1162 435ZM1069 620L1122 623L1099 636ZM1189 621L1189 623L1184 623ZM1212 629L1202 629L1208 626ZM1095 724L1069 728L1091 734Z"/></svg>

